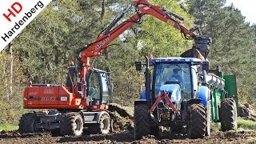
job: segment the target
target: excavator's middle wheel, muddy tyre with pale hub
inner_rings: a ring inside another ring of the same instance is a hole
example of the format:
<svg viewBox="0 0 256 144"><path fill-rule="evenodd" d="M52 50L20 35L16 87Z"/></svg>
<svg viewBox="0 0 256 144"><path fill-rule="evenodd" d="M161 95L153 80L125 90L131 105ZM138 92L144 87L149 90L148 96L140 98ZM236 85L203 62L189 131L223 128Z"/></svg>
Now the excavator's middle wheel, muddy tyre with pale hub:
<svg viewBox="0 0 256 144"><path fill-rule="evenodd" d="M63 121L60 123L59 131L61 135L82 135L83 120L79 113L63 114Z"/></svg>

